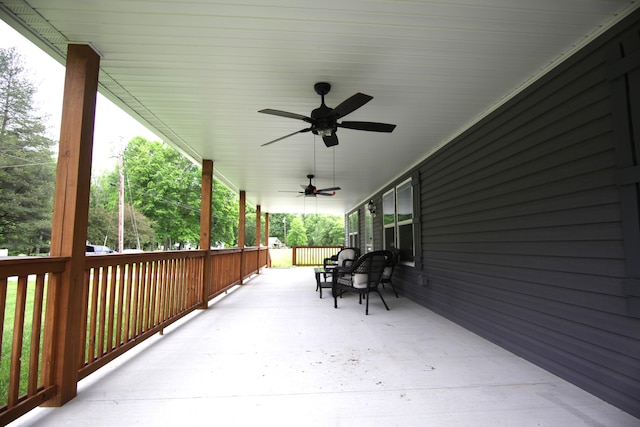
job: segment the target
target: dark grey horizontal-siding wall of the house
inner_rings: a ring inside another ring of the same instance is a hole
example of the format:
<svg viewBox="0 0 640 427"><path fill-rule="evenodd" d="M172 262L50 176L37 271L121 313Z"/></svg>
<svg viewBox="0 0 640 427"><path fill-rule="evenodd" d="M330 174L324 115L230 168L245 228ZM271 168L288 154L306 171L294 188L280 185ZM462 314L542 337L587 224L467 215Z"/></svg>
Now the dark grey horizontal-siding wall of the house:
<svg viewBox="0 0 640 427"><path fill-rule="evenodd" d="M421 262L394 273L405 297L636 417L639 21L407 173L419 176ZM381 227L378 215L376 248Z"/></svg>

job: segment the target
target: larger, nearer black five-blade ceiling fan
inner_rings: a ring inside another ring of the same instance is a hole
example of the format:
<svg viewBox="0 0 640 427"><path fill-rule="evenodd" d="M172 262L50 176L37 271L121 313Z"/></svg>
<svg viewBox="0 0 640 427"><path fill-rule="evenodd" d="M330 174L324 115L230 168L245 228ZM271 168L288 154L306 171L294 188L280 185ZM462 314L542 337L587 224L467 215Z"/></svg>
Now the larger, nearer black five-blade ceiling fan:
<svg viewBox="0 0 640 427"><path fill-rule="evenodd" d="M373 99L373 96L365 95L364 93L356 93L344 100L336 108L327 107L324 103L324 96L331 90L331 85L326 82L318 82L314 85L314 89L318 95L322 97L320 107L311 112L311 117L303 116L302 114L289 113L287 111L272 110L270 108L260 110L259 113L271 114L274 116L287 117L290 119L298 119L311 124L310 127L301 129L297 132L290 133L281 138L269 141L265 145L273 144L274 142L288 138L298 133L304 133L311 131L314 135L320 135L324 144L327 147L338 145L338 137L336 131L339 127L355 130L366 130L371 132L393 132L396 125L388 123L376 123L376 122L341 122L338 123L338 119L352 113L358 108L362 107L367 102Z"/></svg>

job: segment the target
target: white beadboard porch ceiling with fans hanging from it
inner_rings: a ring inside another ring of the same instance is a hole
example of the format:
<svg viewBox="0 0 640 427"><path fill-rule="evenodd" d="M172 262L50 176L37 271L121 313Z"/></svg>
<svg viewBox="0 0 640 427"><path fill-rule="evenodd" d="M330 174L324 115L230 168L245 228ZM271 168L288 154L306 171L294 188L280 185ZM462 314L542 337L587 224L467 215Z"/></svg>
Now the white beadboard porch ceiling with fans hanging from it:
<svg viewBox="0 0 640 427"><path fill-rule="evenodd" d="M622 0L0 0L0 18L64 63L101 55L100 91L263 212L343 214L639 7ZM326 148L302 115L374 97ZM334 197L296 197L306 175Z"/></svg>

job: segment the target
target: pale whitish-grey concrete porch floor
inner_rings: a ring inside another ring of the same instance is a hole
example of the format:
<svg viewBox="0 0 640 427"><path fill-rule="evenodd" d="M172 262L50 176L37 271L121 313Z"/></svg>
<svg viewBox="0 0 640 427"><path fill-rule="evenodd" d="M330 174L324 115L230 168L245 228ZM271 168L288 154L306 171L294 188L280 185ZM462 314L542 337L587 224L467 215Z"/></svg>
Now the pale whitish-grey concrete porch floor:
<svg viewBox="0 0 640 427"><path fill-rule="evenodd" d="M390 289L270 269L11 426L639 426Z"/></svg>

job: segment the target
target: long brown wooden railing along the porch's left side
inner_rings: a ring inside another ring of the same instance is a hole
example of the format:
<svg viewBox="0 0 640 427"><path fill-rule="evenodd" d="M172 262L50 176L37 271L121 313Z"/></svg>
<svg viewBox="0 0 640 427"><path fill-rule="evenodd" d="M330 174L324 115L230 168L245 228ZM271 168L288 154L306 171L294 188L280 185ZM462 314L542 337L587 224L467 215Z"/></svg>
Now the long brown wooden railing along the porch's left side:
<svg viewBox="0 0 640 427"><path fill-rule="evenodd" d="M67 261L0 259L0 425L56 395L57 385L42 373L54 363L56 336L45 324L47 300L55 298L47 285ZM78 379L268 265L265 247L86 257Z"/></svg>

